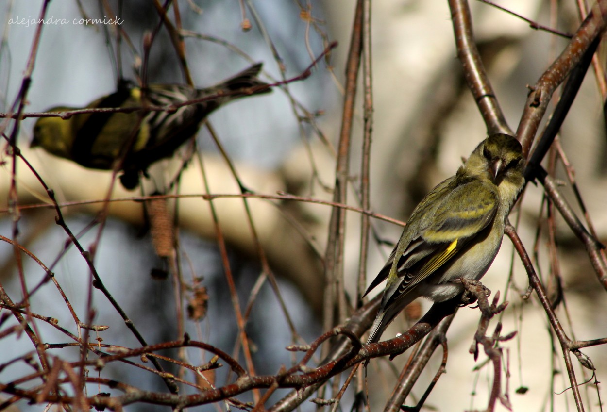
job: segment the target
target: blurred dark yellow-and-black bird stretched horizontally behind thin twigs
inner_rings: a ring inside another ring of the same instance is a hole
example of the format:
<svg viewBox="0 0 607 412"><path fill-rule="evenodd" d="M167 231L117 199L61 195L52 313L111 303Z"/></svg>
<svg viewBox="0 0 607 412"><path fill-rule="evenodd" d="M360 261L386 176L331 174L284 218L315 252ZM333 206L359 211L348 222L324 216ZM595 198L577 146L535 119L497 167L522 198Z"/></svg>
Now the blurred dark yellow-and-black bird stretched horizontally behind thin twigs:
<svg viewBox="0 0 607 412"><path fill-rule="evenodd" d="M93 101L87 108L172 106L215 97L174 111L84 113L67 120L42 117L34 127L32 147L41 146L50 154L92 169L112 170L115 162L122 160L120 180L127 189L134 189L140 172L145 174L150 164L171 157L217 107L243 96L271 92L270 86L257 78L261 68L261 63L255 64L206 89L182 84L150 84L141 89L124 82L117 92ZM75 108L49 109L69 110Z"/></svg>

